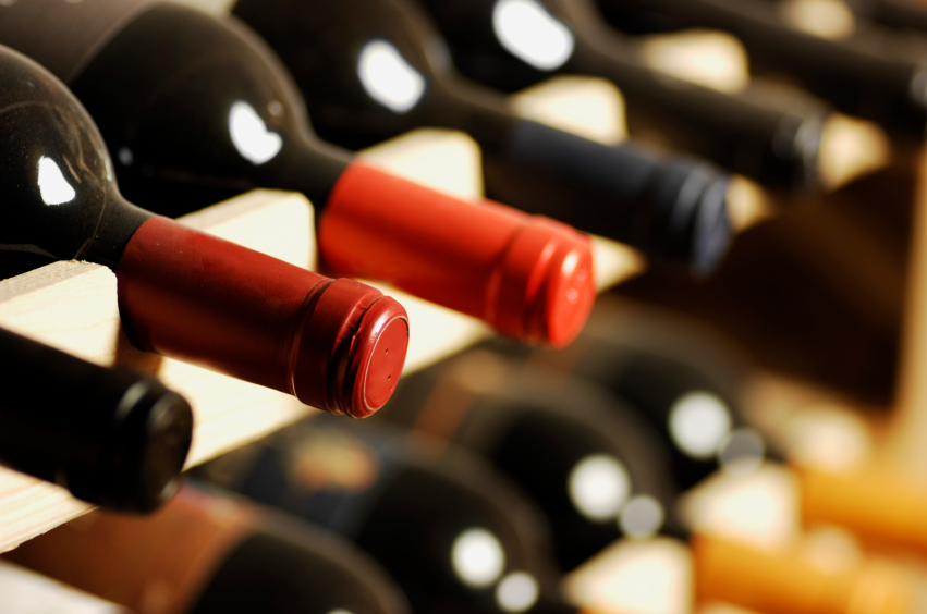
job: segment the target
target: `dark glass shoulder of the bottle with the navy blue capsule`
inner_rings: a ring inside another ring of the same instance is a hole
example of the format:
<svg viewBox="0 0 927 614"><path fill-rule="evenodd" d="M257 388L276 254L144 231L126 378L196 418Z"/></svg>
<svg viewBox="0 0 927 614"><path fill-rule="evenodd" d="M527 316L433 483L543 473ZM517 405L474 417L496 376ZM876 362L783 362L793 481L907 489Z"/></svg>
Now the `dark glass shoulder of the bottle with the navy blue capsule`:
<svg viewBox="0 0 927 614"><path fill-rule="evenodd" d="M422 125L491 140L511 122L501 96L459 78L414 5L244 0L234 12L281 56L319 133L339 144L364 147Z"/></svg>

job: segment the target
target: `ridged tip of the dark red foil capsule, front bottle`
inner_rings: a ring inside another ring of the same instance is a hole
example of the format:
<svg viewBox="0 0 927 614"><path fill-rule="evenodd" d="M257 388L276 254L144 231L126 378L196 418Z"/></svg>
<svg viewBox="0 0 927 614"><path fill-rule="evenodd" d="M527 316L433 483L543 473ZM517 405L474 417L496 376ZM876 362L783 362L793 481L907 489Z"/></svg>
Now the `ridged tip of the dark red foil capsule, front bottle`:
<svg viewBox="0 0 927 614"><path fill-rule="evenodd" d="M303 322L292 393L331 414L365 418L389 401L405 364L408 316L375 287L342 278Z"/></svg>

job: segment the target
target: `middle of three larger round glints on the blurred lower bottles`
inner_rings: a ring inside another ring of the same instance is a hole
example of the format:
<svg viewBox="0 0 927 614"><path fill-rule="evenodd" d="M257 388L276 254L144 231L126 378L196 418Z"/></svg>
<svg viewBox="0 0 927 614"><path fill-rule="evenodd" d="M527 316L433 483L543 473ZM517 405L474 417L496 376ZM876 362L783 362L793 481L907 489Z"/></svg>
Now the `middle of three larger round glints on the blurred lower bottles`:
<svg viewBox="0 0 927 614"><path fill-rule="evenodd" d="M570 471L570 501L586 518L607 521L618 516L631 494L631 478L609 454L586 456Z"/></svg>

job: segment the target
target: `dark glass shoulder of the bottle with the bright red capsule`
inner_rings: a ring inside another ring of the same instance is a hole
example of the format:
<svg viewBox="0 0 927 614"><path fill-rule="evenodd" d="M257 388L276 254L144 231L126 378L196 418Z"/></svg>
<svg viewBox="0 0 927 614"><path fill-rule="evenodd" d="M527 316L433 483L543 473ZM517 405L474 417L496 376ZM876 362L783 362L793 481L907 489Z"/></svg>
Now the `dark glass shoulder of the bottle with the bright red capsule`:
<svg viewBox="0 0 927 614"><path fill-rule="evenodd" d="M105 45L73 88L115 152L126 195L158 212L164 199L196 200L164 211L178 214L256 187L298 189L293 167L326 175L319 184L339 170L314 145L285 69L233 19L156 4Z"/></svg>

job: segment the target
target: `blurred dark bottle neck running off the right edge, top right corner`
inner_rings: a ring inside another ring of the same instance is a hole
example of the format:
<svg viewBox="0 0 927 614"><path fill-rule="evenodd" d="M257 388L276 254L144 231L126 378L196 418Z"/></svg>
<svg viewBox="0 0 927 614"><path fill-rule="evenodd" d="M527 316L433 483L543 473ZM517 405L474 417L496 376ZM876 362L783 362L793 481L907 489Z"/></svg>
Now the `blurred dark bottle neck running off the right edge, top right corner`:
<svg viewBox="0 0 927 614"><path fill-rule="evenodd" d="M673 27L731 32L747 48L754 70L785 73L846 113L900 136L923 138L927 73L919 51L911 48L923 42L865 24L840 39L821 38L792 26L776 3L763 0L598 1L619 28L624 15L639 11Z"/></svg>

